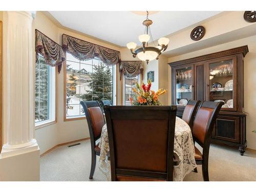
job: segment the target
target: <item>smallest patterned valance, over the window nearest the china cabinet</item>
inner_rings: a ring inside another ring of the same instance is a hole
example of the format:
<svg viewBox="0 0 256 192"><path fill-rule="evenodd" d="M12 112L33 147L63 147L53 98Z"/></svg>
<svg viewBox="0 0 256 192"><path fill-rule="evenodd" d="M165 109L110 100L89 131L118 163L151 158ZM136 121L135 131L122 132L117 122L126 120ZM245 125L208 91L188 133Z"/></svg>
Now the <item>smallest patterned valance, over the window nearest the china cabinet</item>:
<svg viewBox="0 0 256 192"><path fill-rule="evenodd" d="M143 79L143 61L121 61L119 71L120 80L122 74L129 78L142 74Z"/></svg>

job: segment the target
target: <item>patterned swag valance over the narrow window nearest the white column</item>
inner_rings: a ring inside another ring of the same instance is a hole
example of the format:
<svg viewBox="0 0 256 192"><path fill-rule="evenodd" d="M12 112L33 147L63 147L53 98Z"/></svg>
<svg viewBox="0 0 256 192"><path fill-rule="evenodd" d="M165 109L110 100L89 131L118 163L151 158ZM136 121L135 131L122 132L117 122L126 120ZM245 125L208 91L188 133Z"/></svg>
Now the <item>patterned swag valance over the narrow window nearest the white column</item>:
<svg viewBox="0 0 256 192"><path fill-rule="evenodd" d="M60 73L62 62L66 59L62 47L37 29L35 30L35 51L36 61L40 53L47 65L58 66L58 73Z"/></svg>

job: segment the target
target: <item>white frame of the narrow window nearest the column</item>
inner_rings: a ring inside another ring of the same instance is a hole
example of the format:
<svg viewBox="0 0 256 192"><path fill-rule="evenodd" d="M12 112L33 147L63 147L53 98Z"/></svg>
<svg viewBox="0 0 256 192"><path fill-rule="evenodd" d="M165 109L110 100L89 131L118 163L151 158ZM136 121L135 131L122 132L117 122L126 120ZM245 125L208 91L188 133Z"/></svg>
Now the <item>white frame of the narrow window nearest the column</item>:
<svg viewBox="0 0 256 192"><path fill-rule="evenodd" d="M57 123L57 74L58 74L58 67L57 66L56 67L49 66L49 68L50 69L55 68L55 70L52 70L49 73L49 75L50 75L49 78L51 79L52 77L54 77L54 80L55 80L54 87L53 87L53 83L51 83L52 79L50 80L50 83L49 83L49 85L50 85L50 87L49 87L49 91L50 91L49 96L50 96L50 98L49 98L49 109L48 109L49 110L49 119L44 120L44 121L35 122L35 130L38 130L42 127ZM34 69L34 77L35 77L35 69ZM34 80L34 82L35 82L35 80ZM35 84L34 84L34 90L35 90ZM53 106L53 108L51 106ZM51 110L51 108L52 108L52 110ZM35 105L34 105L34 109L35 109ZM35 121L35 119L34 119L34 121Z"/></svg>

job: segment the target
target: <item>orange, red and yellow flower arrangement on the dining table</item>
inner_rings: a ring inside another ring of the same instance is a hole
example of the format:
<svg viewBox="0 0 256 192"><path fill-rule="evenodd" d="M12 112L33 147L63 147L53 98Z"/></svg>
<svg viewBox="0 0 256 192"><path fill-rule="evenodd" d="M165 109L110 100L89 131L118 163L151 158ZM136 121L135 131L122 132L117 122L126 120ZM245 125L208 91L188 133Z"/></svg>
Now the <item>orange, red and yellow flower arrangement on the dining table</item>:
<svg viewBox="0 0 256 192"><path fill-rule="evenodd" d="M136 83L136 88L133 88L135 93L134 98L130 98L132 105L161 105L159 95L164 94L167 90L159 89L157 92L151 89L151 80L147 81L147 85L142 83L141 87Z"/></svg>

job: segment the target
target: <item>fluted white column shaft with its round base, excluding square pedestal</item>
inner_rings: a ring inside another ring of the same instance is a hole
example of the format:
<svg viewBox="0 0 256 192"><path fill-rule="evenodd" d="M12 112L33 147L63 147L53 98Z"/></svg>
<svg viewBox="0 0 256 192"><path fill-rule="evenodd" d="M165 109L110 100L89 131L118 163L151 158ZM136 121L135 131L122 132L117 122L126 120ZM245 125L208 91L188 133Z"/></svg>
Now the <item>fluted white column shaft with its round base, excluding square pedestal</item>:
<svg viewBox="0 0 256 192"><path fill-rule="evenodd" d="M36 149L33 139L32 14L8 12L7 132L2 157Z"/></svg>

